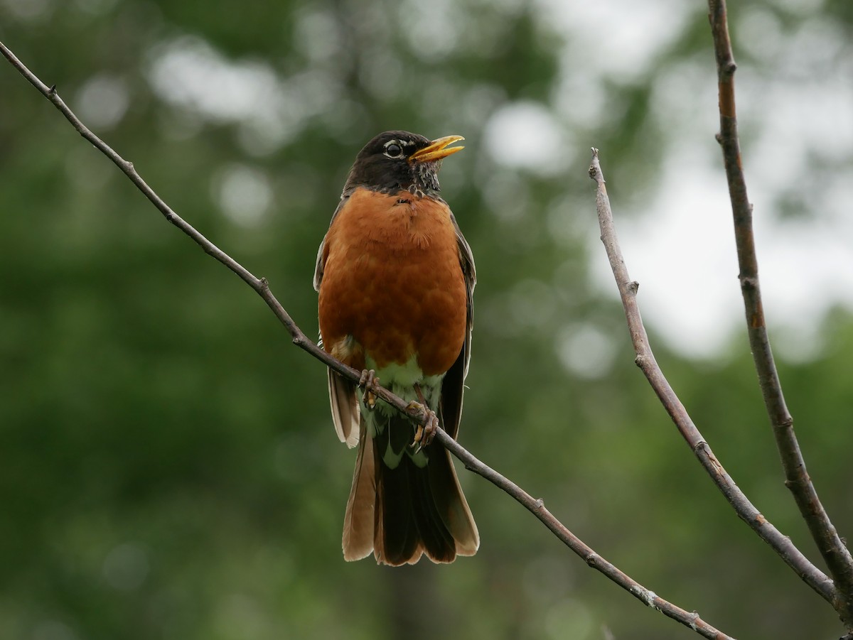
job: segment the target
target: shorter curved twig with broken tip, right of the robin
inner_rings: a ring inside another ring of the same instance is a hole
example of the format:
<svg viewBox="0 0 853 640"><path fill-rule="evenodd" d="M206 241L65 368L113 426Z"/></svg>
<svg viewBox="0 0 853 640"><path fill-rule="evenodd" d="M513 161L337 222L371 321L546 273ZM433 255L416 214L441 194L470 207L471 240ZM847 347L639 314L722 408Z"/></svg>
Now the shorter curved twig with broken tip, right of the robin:
<svg viewBox="0 0 853 640"><path fill-rule="evenodd" d="M610 199L601 173L601 164L598 159L598 149L592 150L592 164L589 167L589 176L595 180L598 188L595 194L595 207L598 210L598 222L601 227L601 242L607 251L613 277L622 297L622 305L625 311L625 319L631 334L631 342L634 344L636 353L635 362L645 374L648 382L652 385L655 394L658 395L661 404L676 424L684 440L693 450L699 463L711 476L711 480L717 485L728 503L734 507L740 519L746 522L767 544L778 553L782 559L797 574L804 579L812 589L817 591L821 597L832 603L835 597L835 589L830 579L820 569L816 568L806 558L790 539L782 535L756 508L752 505L746 495L740 490L731 476L728 475L722 464L711 451L711 447L699 433L693 420L688 415L687 409L678 399L676 392L664 377L660 366L654 359L652 348L648 343L646 327L643 326L640 308L637 305L636 293L639 284L631 280L628 268L625 267L622 250L619 248L616 236L616 228L613 224L613 214L610 209Z"/></svg>

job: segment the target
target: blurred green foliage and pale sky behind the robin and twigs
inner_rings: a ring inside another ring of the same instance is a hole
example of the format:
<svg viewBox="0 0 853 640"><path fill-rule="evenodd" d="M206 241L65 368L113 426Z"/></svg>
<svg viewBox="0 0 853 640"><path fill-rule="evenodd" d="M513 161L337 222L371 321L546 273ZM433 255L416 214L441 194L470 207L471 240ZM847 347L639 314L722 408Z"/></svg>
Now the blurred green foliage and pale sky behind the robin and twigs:
<svg viewBox="0 0 853 640"><path fill-rule="evenodd" d="M0 0L0 38L305 332L358 149L388 129L465 135L442 174L479 272L462 443L722 630L834 637L635 371L597 243L592 145L664 372L815 560L733 332L705 6L571 4ZM853 14L730 9L781 378L849 534ZM10 66L0 175L0 636L692 637L465 473L477 556L343 562L354 454L323 367Z"/></svg>

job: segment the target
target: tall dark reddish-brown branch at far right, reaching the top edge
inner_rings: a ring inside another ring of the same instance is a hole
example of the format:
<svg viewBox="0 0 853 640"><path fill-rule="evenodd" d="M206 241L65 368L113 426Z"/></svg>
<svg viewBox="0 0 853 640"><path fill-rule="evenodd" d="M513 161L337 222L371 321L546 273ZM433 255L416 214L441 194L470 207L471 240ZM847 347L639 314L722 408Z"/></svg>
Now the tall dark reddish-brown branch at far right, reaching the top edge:
<svg viewBox="0 0 853 640"><path fill-rule="evenodd" d="M802 514L821 556L827 562L836 587L833 606L841 620L853 629L853 558L838 537L826 510L821 505L815 486L809 478L793 418L785 403L779 374L776 372L773 352L764 322L761 286L758 281L758 260L755 236L752 232L752 205L746 195L746 179L740 159L737 113L734 106L734 64L732 43L728 37L728 19L725 0L709 0L711 32L717 55L717 82L719 84L720 133L717 141L722 147L722 158L728 178L728 194L734 214L734 239L740 266L740 291L746 310L746 328L752 358L758 374L758 384L764 406L773 425L776 447L779 449L785 484Z"/></svg>

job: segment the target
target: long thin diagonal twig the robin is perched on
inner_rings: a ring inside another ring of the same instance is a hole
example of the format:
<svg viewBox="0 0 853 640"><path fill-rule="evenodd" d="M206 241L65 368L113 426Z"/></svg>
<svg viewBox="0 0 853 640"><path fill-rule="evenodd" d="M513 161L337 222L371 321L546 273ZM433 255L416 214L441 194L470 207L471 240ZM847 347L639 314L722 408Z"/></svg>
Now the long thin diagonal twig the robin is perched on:
<svg viewBox="0 0 853 640"><path fill-rule="evenodd" d="M270 291L270 286L266 279L256 278L247 270L247 268L244 268L239 262L236 262L216 245L213 245L210 240L200 234L192 225L189 224L189 222L184 221L183 218L178 216L173 210L171 210L169 205L165 204L163 199L160 199L160 196L158 196L157 193L154 193L154 190L151 187L148 187L148 184L142 180L142 177L139 176L138 173L136 173L131 162L123 159L119 153L116 153L112 147L109 147L106 142L102 141L82 122L80 122L77 116L70 108L67 107L65 102L62 101L60 96L56 93L55 87L48 87L39 80L3 43L0 43L0 51L2 51L3 55L12 63L13 66L15 66L21 75L23 75L49 101L54 103L55 107L62 112L71 124L73 124L74 129L77 130L80 135L95 145L99 151L106 155L107 158L111 159L113 163L131 179L131 182L133 182L136 187L142 191L145 197L148 198L148 200L150 200L158 210L160 210L166 220L181 229L184 234L189 235L189 237L192 238L196 244L200 245L206 253L216 258L218 262L222 262L223 265L240 276L241 280L246 282L247 285L257 291L258 295L264 298L264 302L267 303L273 313L276 314L276 318L278 318L281 321L281 324L287 328L287 332L289 332L293 337L294 344L298 345L301 349L305 349L305 351L316 357L318 360L322 360L323 363L332 367L335 371L339 372L346 378L350 378L352 381L358 382L361 377L361 372L357 372L355 369L352 369L339 360L334 359L331 355L328 355L325 351L320 349L308 337L305 337L305 333L296 326L296 323L293 322L293 319L289 314L287 314L287 311L281 306L281 303L276 300L276 297L272 294L272 291ZM397 407L399 411L409 415L409 418L412 418L421 424L425 423L427 418L426 415L409 409L409 403L403 401L401 398L397 397L397 395L393 395L390 391L383 389L378 385L374 385L371 390L382 400L392 404L392 406ZM542 521L545 526L557 536L557 538L562 540L578 556L581 556L590 567L597 569L602 574L606 575L607 578L611 579L626 591L629 591L631 595L640 600L641 603L648 607L657 609L673 620L681 622L684 626L690 627L702 637L711 638L712 640L734 640L734 638L726 635L722 631L718 631L713 626L706 623L705 620L702 620L696 612L688 612L682 608L676 607L676 605L664 600L664 598L659 597L653 591L649 591L646 587L636 582L635 579L624 574L624 572L616 568L611 562L607 562L603 557L595 553L589 545L584 544L581 539L578 539L577 536L565 527L565 525L557 520L557 518L555 518L551 512L545 508L542 500L533 499L529 493L526 493L513 481L508 480L497 471L480 462L479 459L473 456L473 454L467 452L465 448L453 440L447 432L440 428L437 429L436 438L450 451L450 453L453 453L456 458L459 458L461 462L466 465L467 469L472 470L479 476L483 476L486 480L495 484L496 487L501 488L504 492L519 501L521 505L524 505L531 511L531 513L537 516L537 518Z"/></svg>

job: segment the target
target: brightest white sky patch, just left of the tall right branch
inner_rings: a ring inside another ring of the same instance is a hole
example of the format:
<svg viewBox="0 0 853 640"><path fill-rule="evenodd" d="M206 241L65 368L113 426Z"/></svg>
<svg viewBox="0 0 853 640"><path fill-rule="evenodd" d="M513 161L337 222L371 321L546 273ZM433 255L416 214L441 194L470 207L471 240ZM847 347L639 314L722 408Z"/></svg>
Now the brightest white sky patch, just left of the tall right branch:
<svg viewBox="0 0 853 640"><path fill-rule="evenodd" d="M740 320L725 178L687 151L670 156L663 171L672 177L643 212L624 210L618 187L608 185L619 243L631 279L640 283L643 320L682 353L710 356ZM615 297L598 235L596 227L589 238L594 287Z"/></svg>

